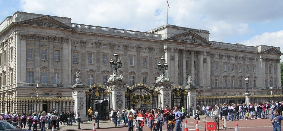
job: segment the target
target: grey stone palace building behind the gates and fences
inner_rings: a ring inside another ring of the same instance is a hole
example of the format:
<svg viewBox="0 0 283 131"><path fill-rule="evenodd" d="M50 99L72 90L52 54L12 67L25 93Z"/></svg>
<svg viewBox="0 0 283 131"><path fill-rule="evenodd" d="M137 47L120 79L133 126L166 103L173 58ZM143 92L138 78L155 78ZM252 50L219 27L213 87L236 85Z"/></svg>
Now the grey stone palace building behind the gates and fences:
<svg viewBox="0 0 283 131"><path fill-rule="evenodd" d="M0 98L72 97L77 70L87 86L106 83L117 54L125 86L154 86L165 58L171 86L196 96L282 94L279 47L210 41L209 31L163 25L146 32L15 12L0 24ZM249 79L246 84L245 79Z"/></svg>

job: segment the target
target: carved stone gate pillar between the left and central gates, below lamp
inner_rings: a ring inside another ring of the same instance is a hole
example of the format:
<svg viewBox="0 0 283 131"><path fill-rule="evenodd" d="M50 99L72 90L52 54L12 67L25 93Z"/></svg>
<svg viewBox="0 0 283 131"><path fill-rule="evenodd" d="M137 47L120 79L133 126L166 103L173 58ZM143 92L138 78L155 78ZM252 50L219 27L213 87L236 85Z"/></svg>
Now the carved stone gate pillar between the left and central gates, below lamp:
<svg viewBox="0 0 283 131"><path fill-rule="evenodd" d="M108 81L107 89L111 92L110 108L123 109L125 108L125 85L126 81Z"/></svg>

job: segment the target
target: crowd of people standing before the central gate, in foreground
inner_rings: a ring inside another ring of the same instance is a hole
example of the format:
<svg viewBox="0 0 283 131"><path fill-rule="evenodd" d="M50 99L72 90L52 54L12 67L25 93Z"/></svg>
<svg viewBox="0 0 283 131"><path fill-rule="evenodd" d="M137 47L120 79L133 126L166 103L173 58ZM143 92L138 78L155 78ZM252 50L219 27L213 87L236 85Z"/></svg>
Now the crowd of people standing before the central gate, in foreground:
<svg viewBox="0 0 283 131"><path fill-rule="evenodd" d="M165 108L156 109L144 109L143 107L137 108L124 108L122 111L118 109L111 109L109 116L110 122L115 123L117 118L117 125L121 126L121 120L124 120L124 126L128 124L128 130L133 131L135 125L135 131L142 131L144 126L148 126L149 131L162 131L163 125L166 125L168 131L181 131L182 119L185 117L184 107L169 108L167 105ZM146 129L147 130L147 129Z"/></svg>

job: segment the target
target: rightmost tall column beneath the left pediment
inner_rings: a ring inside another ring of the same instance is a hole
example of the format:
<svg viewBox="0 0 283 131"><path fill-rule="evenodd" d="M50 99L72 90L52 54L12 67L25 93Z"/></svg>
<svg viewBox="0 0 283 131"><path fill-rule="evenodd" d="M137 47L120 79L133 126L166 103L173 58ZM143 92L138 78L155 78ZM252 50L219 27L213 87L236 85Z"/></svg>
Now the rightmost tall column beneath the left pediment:
<svg viewBox="0 0 283 131"><path fill-rule="evenodd" d="M68 78L72 75L69 75L68 73L71 72L71 70L68 70L68 61L71 61L71 59L69 59L68 55L67 57L65 57L65 54L68 54L68 42L69 39L68 38L62 38L62 54L60 54L61 56L64 55L64 57L61 57L62 59L62 83L63 84L69 84L68 83Z"/></svg>

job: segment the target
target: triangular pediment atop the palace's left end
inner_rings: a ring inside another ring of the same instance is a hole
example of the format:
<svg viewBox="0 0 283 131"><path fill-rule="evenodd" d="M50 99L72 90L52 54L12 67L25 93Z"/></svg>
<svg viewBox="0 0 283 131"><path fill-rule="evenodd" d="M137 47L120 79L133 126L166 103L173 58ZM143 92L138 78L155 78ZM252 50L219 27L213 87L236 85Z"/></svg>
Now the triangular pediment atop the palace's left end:
<svg viewBox="0 0 283 131"><path fill-rule="evenodd" d="M64 28L64 29L72 29L68 25L55 20L49 16L37 17L29 20L24 20L19 22L21 24L28 24L28 25L37 25L37 26L44 26L44 27L56 27L56 28Z"/></svg>

